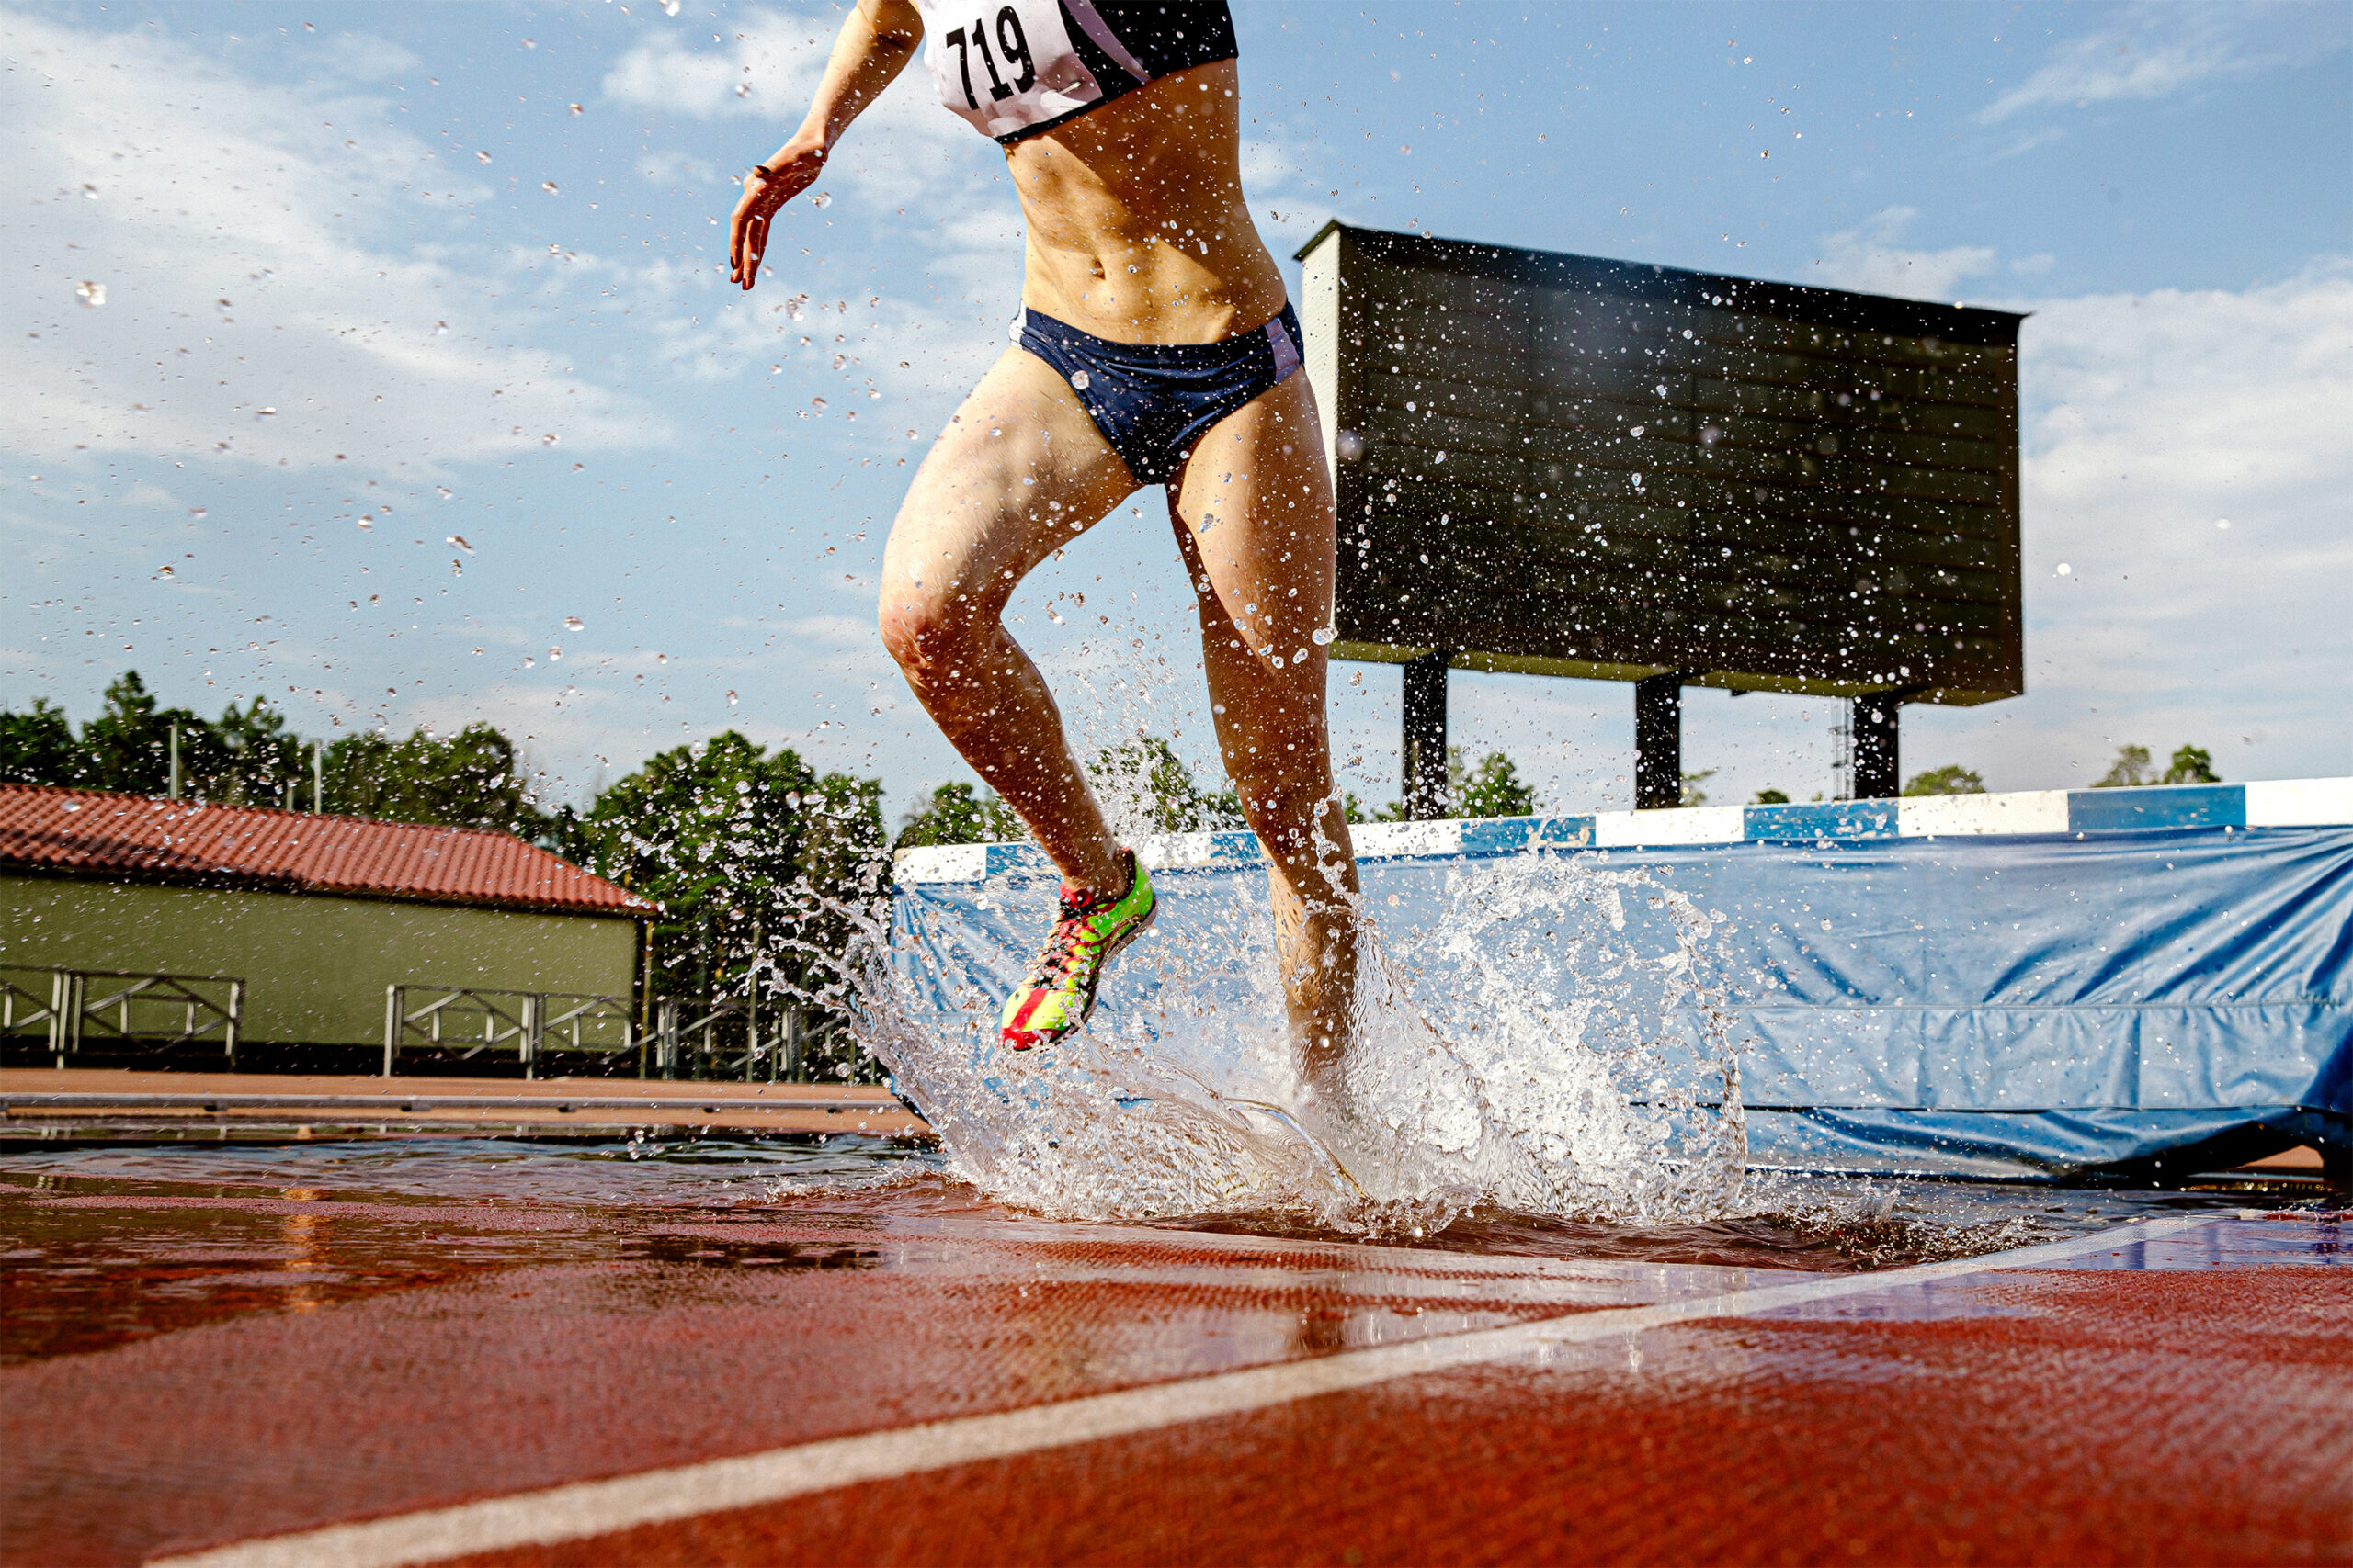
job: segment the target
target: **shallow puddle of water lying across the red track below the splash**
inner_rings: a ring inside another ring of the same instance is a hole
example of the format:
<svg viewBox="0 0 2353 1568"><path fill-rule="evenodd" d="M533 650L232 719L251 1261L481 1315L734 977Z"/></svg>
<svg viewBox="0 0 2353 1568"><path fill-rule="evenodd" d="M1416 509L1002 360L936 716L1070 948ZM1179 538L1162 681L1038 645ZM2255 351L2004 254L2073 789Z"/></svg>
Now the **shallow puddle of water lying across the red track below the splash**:
<svg viewBox="0 0 2353 1568"><path fill-rule="evenodd" d="M894 1227L1059 1225L988 1201L936 1152L864 1138L518 1145L384 1140L78 1147L0 1154L0 1363L82 1354L252 1312L579 1262L871 1267ZM2031 1246L2160 1211L2282 1206L2252 1194L1751 1178L1708 1222L1607 1225L1473 1211L1384 1246L1558 1260L1854 1272ZM713 1227L788 1225L802 1239ZM1315 1244L1292 1218L1202 1215L1160 1232ZM1071 1222L1073 1239L1108 1227ZM812 1239L814 1237L814 1239Z"/></svg>

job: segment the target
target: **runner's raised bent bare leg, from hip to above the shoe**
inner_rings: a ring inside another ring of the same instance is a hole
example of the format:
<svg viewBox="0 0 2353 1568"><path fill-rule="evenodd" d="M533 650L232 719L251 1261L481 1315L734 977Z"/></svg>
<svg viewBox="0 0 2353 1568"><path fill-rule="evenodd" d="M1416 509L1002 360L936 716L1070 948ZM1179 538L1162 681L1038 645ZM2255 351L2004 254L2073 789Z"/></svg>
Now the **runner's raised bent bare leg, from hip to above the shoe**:
<svg viewBox="0 0 2353 1568"><path fill-rule="evenodd" d="M882 644L948 743L1087 891L1120 882L1120 846L1002 616L1038 562L1134 489L1061 376L1009 348L915 470L882 548Z"/></svg>

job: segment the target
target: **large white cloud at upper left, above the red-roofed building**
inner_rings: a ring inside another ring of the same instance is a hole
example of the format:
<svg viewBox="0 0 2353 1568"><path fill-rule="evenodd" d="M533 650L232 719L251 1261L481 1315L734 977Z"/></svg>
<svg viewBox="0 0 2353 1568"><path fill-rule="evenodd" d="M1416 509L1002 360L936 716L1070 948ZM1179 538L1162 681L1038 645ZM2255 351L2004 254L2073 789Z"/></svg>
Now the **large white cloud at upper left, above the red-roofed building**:
<svg viewBox="0 0 2353 1568"><path fill-rule="evenodd" d="M656 411L536 348L480 270L435 244L487 195L386 99L240 78L160 31L0 16L19 188L0 228L26 329L0 447L313 468L426 468L666 440ZM414 63L362 49L369 71ZM80 303L80 284L106 303Z"/></svg>

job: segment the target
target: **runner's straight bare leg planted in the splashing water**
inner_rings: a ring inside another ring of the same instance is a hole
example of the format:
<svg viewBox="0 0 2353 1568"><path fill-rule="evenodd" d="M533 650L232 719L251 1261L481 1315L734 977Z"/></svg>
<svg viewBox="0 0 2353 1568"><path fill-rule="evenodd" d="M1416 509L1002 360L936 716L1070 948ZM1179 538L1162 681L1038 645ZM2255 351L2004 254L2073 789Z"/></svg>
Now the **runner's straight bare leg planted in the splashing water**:
<svg viewBox="0 0 2353 1568"><path fill-rule="evenodd" d="M1275 957L1308 1081L1329 1084L1355 997L1355 846L1332 788L1325 646L1332 477L1301 374L1193 444L1169 512L1200 599L1226 773L1273 863Z"/></svg>

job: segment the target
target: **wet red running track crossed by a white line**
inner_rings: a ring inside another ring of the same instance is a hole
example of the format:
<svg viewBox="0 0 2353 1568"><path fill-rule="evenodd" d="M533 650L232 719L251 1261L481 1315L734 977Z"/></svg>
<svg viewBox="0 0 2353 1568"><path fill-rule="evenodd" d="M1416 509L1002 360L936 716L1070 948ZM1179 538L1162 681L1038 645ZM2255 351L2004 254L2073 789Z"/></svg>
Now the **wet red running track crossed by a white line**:
<svg viewBox="0 0 2353 1568"><path fill-rule="evenodd" d="M14 1563L2353 1561L2327 1218L1828 1276L0 1197L96 1265L12 1288Z"/></svg>

